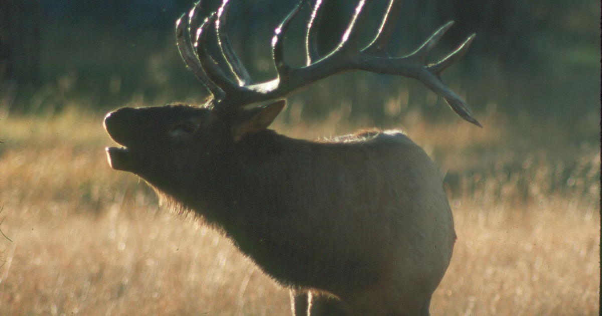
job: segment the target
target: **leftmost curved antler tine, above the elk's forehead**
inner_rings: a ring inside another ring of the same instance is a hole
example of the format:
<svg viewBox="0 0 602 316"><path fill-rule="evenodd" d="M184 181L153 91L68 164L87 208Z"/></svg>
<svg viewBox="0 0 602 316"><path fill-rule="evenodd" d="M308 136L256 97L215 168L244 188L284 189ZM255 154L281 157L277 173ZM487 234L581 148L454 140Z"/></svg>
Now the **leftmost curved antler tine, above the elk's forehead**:
<svg viewBox="0 0 602 316"><path fill-rule="evenodd" d="M194 14L193 10L196 9L197 5L198 3L191 10L190 14ZM221 96L223 91L209 79L205 73L205 70L203 70L203 67L200 65L199 59L194 54L190 35L190 19L186 19L185 16L185 13L182 14L182 16L176 21L176 46L178 46L180 56L184 60L184 63L188 69L190 69L196 78L198 78L200 82L205 85L207 90L209 90L209 93L211 93L214 98Z"/></svg>

